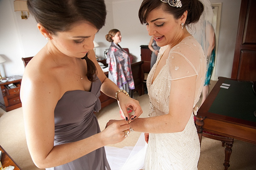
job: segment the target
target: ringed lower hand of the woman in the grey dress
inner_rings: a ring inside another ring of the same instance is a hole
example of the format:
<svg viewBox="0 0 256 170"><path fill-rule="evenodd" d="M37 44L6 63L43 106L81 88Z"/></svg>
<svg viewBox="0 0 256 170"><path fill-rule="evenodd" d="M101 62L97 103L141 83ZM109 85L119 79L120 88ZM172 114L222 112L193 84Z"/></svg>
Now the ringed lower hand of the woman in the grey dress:
<svg viewBox="0 0 256 170"><path fill-rule="evenodd" d="M125 120L113 120L111 125L107 126L108 127L100 133L104 145L122 142L125 139L124 130L127 130L128 133L130 133L130 125L128 125L128 122Z"/></svg>

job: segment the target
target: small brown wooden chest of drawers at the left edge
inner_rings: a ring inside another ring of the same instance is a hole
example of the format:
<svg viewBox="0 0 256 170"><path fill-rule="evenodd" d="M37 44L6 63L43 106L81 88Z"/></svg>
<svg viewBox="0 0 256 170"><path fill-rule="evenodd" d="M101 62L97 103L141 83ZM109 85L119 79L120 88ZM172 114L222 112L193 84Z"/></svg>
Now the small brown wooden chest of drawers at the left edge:
<svg viewBox="0 0 256 170"><path fill-rule="evenodd" d="M20 102L20 85L21 85L21 79L20 76L15 76L15 80L8 81L5 83L0 83L1 87L1 95L0 95L0 107L5 110L6 112L11 111L16 108L21 107ZM11 77L9 77L9 80ZM16 88L8 88L9 84L14 84L17 87Z"/></svg>

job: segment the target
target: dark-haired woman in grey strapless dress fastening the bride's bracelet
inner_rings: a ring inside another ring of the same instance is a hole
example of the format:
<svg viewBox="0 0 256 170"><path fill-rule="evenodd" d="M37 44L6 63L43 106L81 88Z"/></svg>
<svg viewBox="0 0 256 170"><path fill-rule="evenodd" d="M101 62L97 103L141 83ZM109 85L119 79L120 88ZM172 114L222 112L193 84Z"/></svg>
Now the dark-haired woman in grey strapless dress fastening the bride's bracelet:
<svg viewBox="0 0 256 170"><path fill-rule="evenodd" d="M127 117L126 107L137 116L142 111L96 61L93 40L105 24L104 0L28 0L27 5L48 40L26 66L20 91L33 162L47 170L110 170L104 146L124 140L130 126L120 120L100 131L94 114L101 108L100 91L116 96Z"/></svg>

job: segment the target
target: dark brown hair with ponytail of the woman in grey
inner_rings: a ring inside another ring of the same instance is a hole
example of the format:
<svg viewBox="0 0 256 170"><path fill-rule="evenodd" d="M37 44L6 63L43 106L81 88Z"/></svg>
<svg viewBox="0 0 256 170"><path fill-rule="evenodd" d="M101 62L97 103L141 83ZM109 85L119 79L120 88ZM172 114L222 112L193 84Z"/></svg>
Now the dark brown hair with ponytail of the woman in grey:
<svg viewBox="0 0 256 170"><path fill-rule="evenodd" d="M81 21L92 23L98 30L105 25L104 0L27 0L29 12L50 33L65 32ZM86 59L87 78L96 80L96 66Z"/></svg>

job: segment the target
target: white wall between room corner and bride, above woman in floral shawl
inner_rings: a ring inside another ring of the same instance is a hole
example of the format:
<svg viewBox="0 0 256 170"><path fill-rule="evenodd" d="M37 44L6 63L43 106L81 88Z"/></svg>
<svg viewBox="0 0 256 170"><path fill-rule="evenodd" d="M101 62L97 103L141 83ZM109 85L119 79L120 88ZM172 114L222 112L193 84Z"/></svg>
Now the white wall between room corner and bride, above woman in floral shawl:
<svg viewBox="0 0 256 170"><path fill-rule="evenodd" d="M143 0L113 1L114 27L122 34L122 48L129 48L129 52L140 61L140 45L148 45L150 36L146 26L140 23L138 11ZM134 62L135 62L134 61Z"/></svg>

